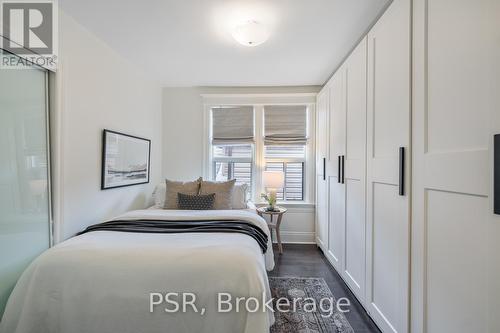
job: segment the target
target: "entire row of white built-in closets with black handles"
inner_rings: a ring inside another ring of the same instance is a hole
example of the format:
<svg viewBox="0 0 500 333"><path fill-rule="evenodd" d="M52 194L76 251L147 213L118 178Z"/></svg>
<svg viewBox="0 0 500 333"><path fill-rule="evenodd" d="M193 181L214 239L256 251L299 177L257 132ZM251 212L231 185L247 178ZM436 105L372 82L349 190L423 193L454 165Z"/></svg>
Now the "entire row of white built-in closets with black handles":
<svg viewBox="0 0 500 333"><path fill-rule="evenodd" d="M383 332L500 332L499 63L500 1L394 0L318 94L317 243Z"/></svg>

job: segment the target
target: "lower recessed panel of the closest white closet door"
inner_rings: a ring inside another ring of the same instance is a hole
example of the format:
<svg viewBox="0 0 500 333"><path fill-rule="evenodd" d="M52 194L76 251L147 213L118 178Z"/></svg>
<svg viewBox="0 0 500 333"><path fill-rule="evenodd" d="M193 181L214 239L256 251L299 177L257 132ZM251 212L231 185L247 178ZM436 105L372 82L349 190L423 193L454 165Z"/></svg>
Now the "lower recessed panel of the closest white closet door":
<svg viewBox="0 0 500 333"><path fill-rule="evenodd" d="M488 200L439 190L428 190L425 200L426 331L493 332L488 330ZM474 306L464 308L464 302Z"/></svg>

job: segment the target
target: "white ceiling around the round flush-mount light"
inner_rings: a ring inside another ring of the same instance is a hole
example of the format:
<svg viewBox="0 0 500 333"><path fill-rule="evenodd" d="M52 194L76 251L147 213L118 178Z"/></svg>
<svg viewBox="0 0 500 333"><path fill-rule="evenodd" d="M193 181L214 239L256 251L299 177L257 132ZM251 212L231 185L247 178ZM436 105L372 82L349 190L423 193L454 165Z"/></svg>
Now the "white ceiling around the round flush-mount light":
<svg viewBox="0 0 500 333"><path fill-rule="evenodd" d="M62 9L165 86L321 85L389 0L60 0ZM237 44L231 28L266 24Z"/></svg>

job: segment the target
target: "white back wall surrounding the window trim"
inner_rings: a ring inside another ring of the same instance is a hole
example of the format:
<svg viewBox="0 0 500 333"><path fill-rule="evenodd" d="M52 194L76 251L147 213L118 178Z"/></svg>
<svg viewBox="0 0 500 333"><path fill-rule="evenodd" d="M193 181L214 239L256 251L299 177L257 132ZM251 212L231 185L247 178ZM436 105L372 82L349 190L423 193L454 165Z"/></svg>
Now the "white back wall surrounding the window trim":
<svg viewBox="0 0 500 333"><path fill-rule="evenodd" d="M163 176L191 180L203 175L203 105L201 94L316 93L306 87L166 87L163 88ZM289 206L283 218L285 242L314 243L314 206Z"/></svg>

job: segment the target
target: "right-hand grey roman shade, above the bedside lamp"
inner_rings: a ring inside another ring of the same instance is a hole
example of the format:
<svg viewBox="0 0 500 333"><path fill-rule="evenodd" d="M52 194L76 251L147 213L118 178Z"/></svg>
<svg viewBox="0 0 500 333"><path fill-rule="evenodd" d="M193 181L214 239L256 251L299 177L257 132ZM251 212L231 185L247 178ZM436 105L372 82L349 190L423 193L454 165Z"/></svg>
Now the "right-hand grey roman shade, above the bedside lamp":
<svg viewBox="0 0 500 333"><path fill-rule="evenodd" d="M273 105L264 107L265 145L305 145L307 107Z"/></svg>

